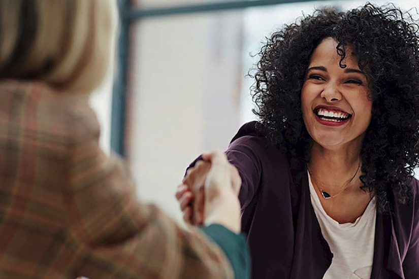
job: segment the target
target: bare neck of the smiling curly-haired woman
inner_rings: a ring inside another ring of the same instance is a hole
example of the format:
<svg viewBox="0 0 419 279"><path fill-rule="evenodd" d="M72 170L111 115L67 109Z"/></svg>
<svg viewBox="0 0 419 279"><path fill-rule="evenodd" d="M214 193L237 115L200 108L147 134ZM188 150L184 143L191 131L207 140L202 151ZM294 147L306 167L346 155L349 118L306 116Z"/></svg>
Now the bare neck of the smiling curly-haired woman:
<svg viewBox="0 0 419 279"><path fill-rule="evenodd" d="M315 179L328 187L327 190L339 191L356 173L361 160L360 153L360 149L328 150L314 143L308 166ZM360 186L360 175L361 171L358 171L349 187Z"/></svg>

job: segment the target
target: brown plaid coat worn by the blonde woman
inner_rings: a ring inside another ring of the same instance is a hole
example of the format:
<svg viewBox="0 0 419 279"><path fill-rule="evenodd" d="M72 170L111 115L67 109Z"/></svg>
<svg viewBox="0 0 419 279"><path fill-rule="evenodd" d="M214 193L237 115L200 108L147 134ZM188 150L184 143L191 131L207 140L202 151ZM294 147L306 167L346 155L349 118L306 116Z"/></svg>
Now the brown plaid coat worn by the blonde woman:
<svg viewBox="0 0 419 279"><path fill-rule="evenodd" d="M231 278L221 250L136 200L87 95L0 83L0 278Z"/></svg>

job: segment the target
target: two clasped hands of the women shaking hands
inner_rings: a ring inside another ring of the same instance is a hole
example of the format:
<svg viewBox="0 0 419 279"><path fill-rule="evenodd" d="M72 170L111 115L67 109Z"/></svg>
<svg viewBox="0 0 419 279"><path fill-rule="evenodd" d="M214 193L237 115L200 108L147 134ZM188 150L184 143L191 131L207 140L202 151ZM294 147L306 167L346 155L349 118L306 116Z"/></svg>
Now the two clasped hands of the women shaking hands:
<svg viewBox="0 0 419 279"><path fill-rule="evenodd" d="M188 169L176 191L183 220L192 225L219 224L240 232L241 178L225 154L215 151Z"/></svg>

